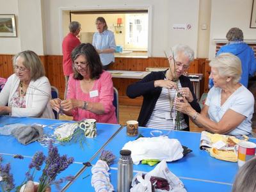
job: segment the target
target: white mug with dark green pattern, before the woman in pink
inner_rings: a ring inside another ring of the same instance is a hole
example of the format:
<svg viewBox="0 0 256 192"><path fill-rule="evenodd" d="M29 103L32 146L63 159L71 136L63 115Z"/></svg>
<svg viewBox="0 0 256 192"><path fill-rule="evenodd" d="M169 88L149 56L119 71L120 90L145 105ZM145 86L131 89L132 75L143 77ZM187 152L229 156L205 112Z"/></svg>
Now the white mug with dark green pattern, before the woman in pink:
<svg viewBox="0 0 256 192"><path fill-rule="evenodd" d="M83 122L79 124L79 128L84 131L86 138L94 138L97 136L96 120L94 118L83 120Z"/></svg>

